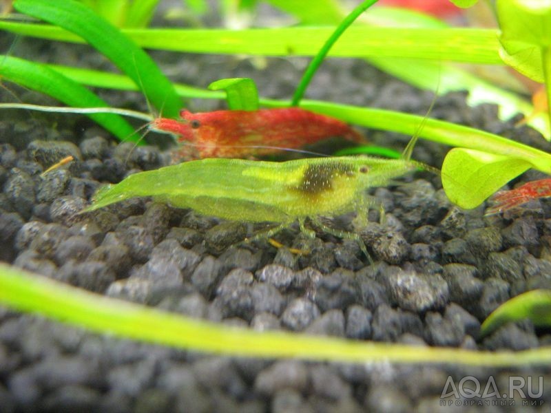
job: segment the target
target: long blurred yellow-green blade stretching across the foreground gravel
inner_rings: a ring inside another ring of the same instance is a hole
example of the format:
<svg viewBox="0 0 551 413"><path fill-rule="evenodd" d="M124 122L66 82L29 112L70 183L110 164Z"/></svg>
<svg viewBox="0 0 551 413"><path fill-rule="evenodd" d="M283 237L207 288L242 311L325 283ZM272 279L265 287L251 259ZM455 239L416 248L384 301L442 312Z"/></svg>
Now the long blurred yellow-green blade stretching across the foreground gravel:
<svg viewBox="0 0 551 413"><path fill-rule="evenodd" d="M89 293L0 264L0 303L94 332L187 350L240 357L299 357L348 363L452 363L468 366L551 364L551 348L488 352L256 332L220 326Z"/></svg>

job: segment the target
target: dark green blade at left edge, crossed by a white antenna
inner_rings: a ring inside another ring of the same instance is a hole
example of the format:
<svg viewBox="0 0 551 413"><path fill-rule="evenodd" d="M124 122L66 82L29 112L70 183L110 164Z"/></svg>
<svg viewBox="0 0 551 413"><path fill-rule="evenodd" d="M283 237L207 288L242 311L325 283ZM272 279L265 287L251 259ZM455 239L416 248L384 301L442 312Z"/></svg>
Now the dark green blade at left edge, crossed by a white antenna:
<svg viewBox="0 0 551 413"><path fill-rule="evenodd" d="M90 90L59 74L55 70L12 56L0 56L0 76L29 87L74 107L107 107L107 103ZM88 115L121 140L137 142L139 136L121 116L114 114Z"/></svg>

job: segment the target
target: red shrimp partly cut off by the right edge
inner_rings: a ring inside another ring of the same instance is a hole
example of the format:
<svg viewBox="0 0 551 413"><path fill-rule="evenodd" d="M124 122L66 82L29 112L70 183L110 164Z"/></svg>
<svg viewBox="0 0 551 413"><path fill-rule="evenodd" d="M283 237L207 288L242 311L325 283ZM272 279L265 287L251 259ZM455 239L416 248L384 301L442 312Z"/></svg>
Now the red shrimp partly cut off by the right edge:
<svg viewBox="0 0 551 413"><path fill-rule="evenodd" d="M547 197L551 197L551 178L534 180L509 191L495 193L492 197L495 204L486 211L486 215L508 211L530 200Z"/></svg>

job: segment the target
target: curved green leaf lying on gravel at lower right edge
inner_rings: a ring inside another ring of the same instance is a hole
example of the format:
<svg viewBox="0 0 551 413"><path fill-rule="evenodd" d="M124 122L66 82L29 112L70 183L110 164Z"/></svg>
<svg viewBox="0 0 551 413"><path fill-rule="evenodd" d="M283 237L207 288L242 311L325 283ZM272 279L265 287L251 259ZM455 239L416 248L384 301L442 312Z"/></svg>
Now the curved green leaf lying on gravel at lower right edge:
<svg viewBox="0 0 551 413"><path fill-rule="evenodd" d="M534 326L551 326L551 290L532 290L517 295L496 308L482 323L480 334L486 336L503 324L530 319Z"/></svg>

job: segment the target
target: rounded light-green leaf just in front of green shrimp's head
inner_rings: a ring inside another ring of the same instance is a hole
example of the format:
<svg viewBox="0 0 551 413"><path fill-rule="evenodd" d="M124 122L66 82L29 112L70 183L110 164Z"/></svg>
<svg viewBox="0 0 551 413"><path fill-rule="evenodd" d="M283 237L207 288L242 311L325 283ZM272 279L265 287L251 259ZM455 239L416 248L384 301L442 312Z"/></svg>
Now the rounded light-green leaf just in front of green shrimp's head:
<svg viewBox="0 0 551 413"><path fill-rule="evenodd" d="M532 166L522 158L454 148L442 164L442 187L451 202L472 209Z"/></svg>

